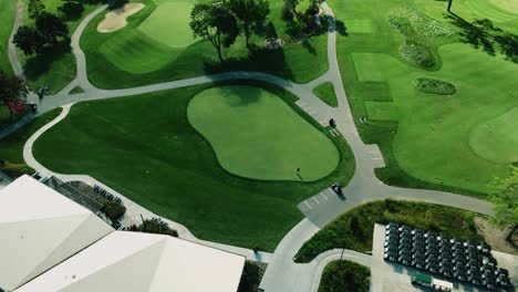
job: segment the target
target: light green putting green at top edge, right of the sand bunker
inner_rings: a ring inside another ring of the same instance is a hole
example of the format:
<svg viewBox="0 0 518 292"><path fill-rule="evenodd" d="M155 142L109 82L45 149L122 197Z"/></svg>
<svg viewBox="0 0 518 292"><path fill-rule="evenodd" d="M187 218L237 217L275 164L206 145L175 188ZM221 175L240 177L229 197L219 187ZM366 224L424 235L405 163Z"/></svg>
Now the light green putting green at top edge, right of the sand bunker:
<svg viewBox="0 0 518 292"><path fill-rule="evenodd" d="M189 28L193 7L189 2L159 4L138 27L138 30L153 40L170 48L188 46L195 42Z"/></svg>

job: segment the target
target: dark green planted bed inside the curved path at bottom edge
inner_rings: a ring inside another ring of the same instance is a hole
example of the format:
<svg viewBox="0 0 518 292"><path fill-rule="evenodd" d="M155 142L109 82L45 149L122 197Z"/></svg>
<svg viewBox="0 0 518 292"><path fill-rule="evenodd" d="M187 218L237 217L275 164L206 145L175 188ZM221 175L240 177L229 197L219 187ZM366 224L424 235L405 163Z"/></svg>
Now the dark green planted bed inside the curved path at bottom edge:
<svg viewBox="0 0 518 292"><path fill-rule="evenodd" d="M319 292L367 292L371 269L352 261L332 261L322 273Z"/></svg>

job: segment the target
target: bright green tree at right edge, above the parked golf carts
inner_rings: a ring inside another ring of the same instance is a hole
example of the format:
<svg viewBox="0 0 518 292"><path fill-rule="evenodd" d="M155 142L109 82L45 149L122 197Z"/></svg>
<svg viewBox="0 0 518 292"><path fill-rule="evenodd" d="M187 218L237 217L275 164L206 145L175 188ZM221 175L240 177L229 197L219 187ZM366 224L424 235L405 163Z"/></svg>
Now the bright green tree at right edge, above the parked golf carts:
<svg viewBox="0 0 518 292"><path fill-rule="evenodd" d="M495 205L490 221L499 227L511 227L506 238L510 240L518 228L518 167L511 167L509 177L496 177L489 188L488 199Z"/></svg>

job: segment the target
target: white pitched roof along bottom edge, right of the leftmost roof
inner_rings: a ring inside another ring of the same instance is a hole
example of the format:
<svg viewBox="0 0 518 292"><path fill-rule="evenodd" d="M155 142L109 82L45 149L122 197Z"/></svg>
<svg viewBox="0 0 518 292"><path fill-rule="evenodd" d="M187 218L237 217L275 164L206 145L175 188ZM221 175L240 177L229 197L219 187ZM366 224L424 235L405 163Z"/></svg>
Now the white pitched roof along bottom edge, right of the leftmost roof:
<svg viewBox="0 0 518 292"><path fill-rule="evenodd" d="M17 292L236 292L245 258L169 236L115 231Z"/></svg>

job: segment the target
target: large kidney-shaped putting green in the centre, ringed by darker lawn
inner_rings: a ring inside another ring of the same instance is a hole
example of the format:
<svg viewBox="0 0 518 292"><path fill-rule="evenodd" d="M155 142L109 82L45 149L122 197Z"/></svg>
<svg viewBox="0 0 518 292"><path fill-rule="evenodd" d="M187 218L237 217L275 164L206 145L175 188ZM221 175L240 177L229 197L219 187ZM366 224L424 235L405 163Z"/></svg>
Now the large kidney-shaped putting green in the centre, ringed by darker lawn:
<svg viewBox="0 0 518 292"><path fill-rule="evenodd" d="M262 88L204 91L190 101L187 116L209 140L220 165L238 176L312 181L331 174L339 163L339 152L327 136Z"/></svg>

